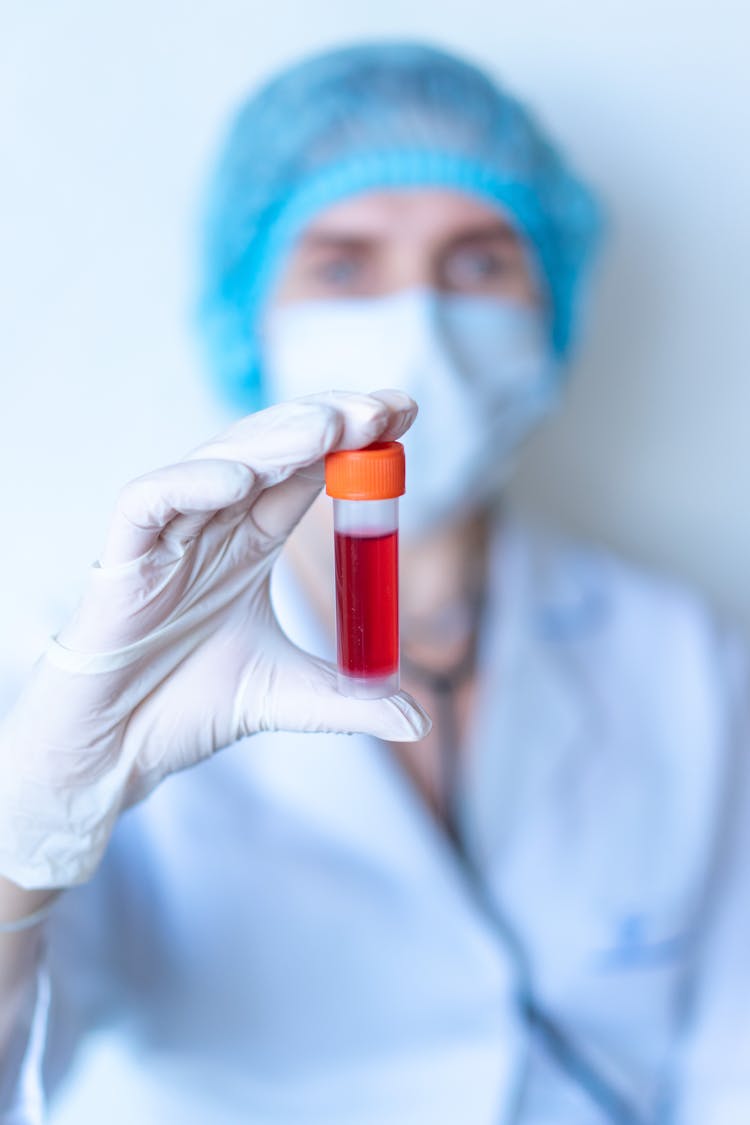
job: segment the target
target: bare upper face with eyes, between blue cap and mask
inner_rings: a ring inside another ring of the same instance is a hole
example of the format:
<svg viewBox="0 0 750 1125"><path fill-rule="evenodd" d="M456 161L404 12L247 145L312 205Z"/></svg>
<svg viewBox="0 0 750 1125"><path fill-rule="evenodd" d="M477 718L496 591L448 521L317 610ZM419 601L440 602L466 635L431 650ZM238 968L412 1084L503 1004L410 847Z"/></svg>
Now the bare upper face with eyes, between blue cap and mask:
<svg viewBox="0 0 750 1125"><path fill-rule="evenodd" d="M409 288L542 303L530 254L508 219L461 191L419 188L368 192L317 215L291 251L272 304Z"/></svg>

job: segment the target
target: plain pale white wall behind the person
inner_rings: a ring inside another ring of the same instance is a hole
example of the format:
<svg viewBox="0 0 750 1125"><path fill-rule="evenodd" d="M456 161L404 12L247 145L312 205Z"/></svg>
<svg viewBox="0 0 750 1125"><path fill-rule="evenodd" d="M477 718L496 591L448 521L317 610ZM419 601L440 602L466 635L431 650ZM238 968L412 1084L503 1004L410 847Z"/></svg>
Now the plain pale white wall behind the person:
<svg viewBox="0 0 750 1125"><path fill-rule="evenodd" d="M741 0L2 0L0 19L0 665L71 602L118 484L222 422L187 321L227 111L358 36L494 68L608 200L588 346L522 502L750 621Z"/></svg>

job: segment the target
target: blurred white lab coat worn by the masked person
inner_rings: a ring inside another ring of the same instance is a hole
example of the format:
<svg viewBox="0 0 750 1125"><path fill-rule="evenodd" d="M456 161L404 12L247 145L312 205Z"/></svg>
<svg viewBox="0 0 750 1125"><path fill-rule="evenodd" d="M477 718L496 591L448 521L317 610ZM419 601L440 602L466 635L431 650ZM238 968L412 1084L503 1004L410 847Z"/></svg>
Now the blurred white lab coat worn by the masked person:
<svg viewBox="0 0 750 1125"><path fill-rule="evenodd" d="M256 736L60 901L3 1125L61 1083L60 1125L606 1122L530 1029L522 962L644 1120L750 1122L744 645L513 523L491 560L460 810L506 930L386 746Z"/></svg>

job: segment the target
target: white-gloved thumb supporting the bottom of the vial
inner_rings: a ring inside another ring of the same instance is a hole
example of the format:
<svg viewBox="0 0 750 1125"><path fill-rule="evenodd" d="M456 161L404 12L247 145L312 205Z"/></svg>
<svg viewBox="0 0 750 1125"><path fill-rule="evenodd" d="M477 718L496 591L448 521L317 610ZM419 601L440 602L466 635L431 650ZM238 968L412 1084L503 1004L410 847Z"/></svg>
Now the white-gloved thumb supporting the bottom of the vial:
<svg viewBox="0 0 750 1125"><path fill-rule="evenodd" d="M241 688L235 729L241 731L240 737L261 730L298 730L416 742L430 734L432 720L407 692L379 700L343 695L335 666L297 649L268 677L262 694L250 684L247 690Z"/></svg>

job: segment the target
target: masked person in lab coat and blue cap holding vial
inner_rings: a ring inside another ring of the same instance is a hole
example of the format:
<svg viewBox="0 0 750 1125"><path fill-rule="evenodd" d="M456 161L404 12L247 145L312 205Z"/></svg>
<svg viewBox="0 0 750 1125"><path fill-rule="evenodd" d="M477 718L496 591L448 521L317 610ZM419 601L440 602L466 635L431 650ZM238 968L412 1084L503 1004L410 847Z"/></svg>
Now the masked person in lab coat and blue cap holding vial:
<svg viewBox="0 0 750 1125"><path fill-rule="evenodd" d="M504 504L599 226L427 45L241 109L200 316L242 416L125 487L0 732L3 1123L94 1030L114 1123L746 1119L747 646ZM352 700L322 458L400 435L405 690Z"/></svg>

